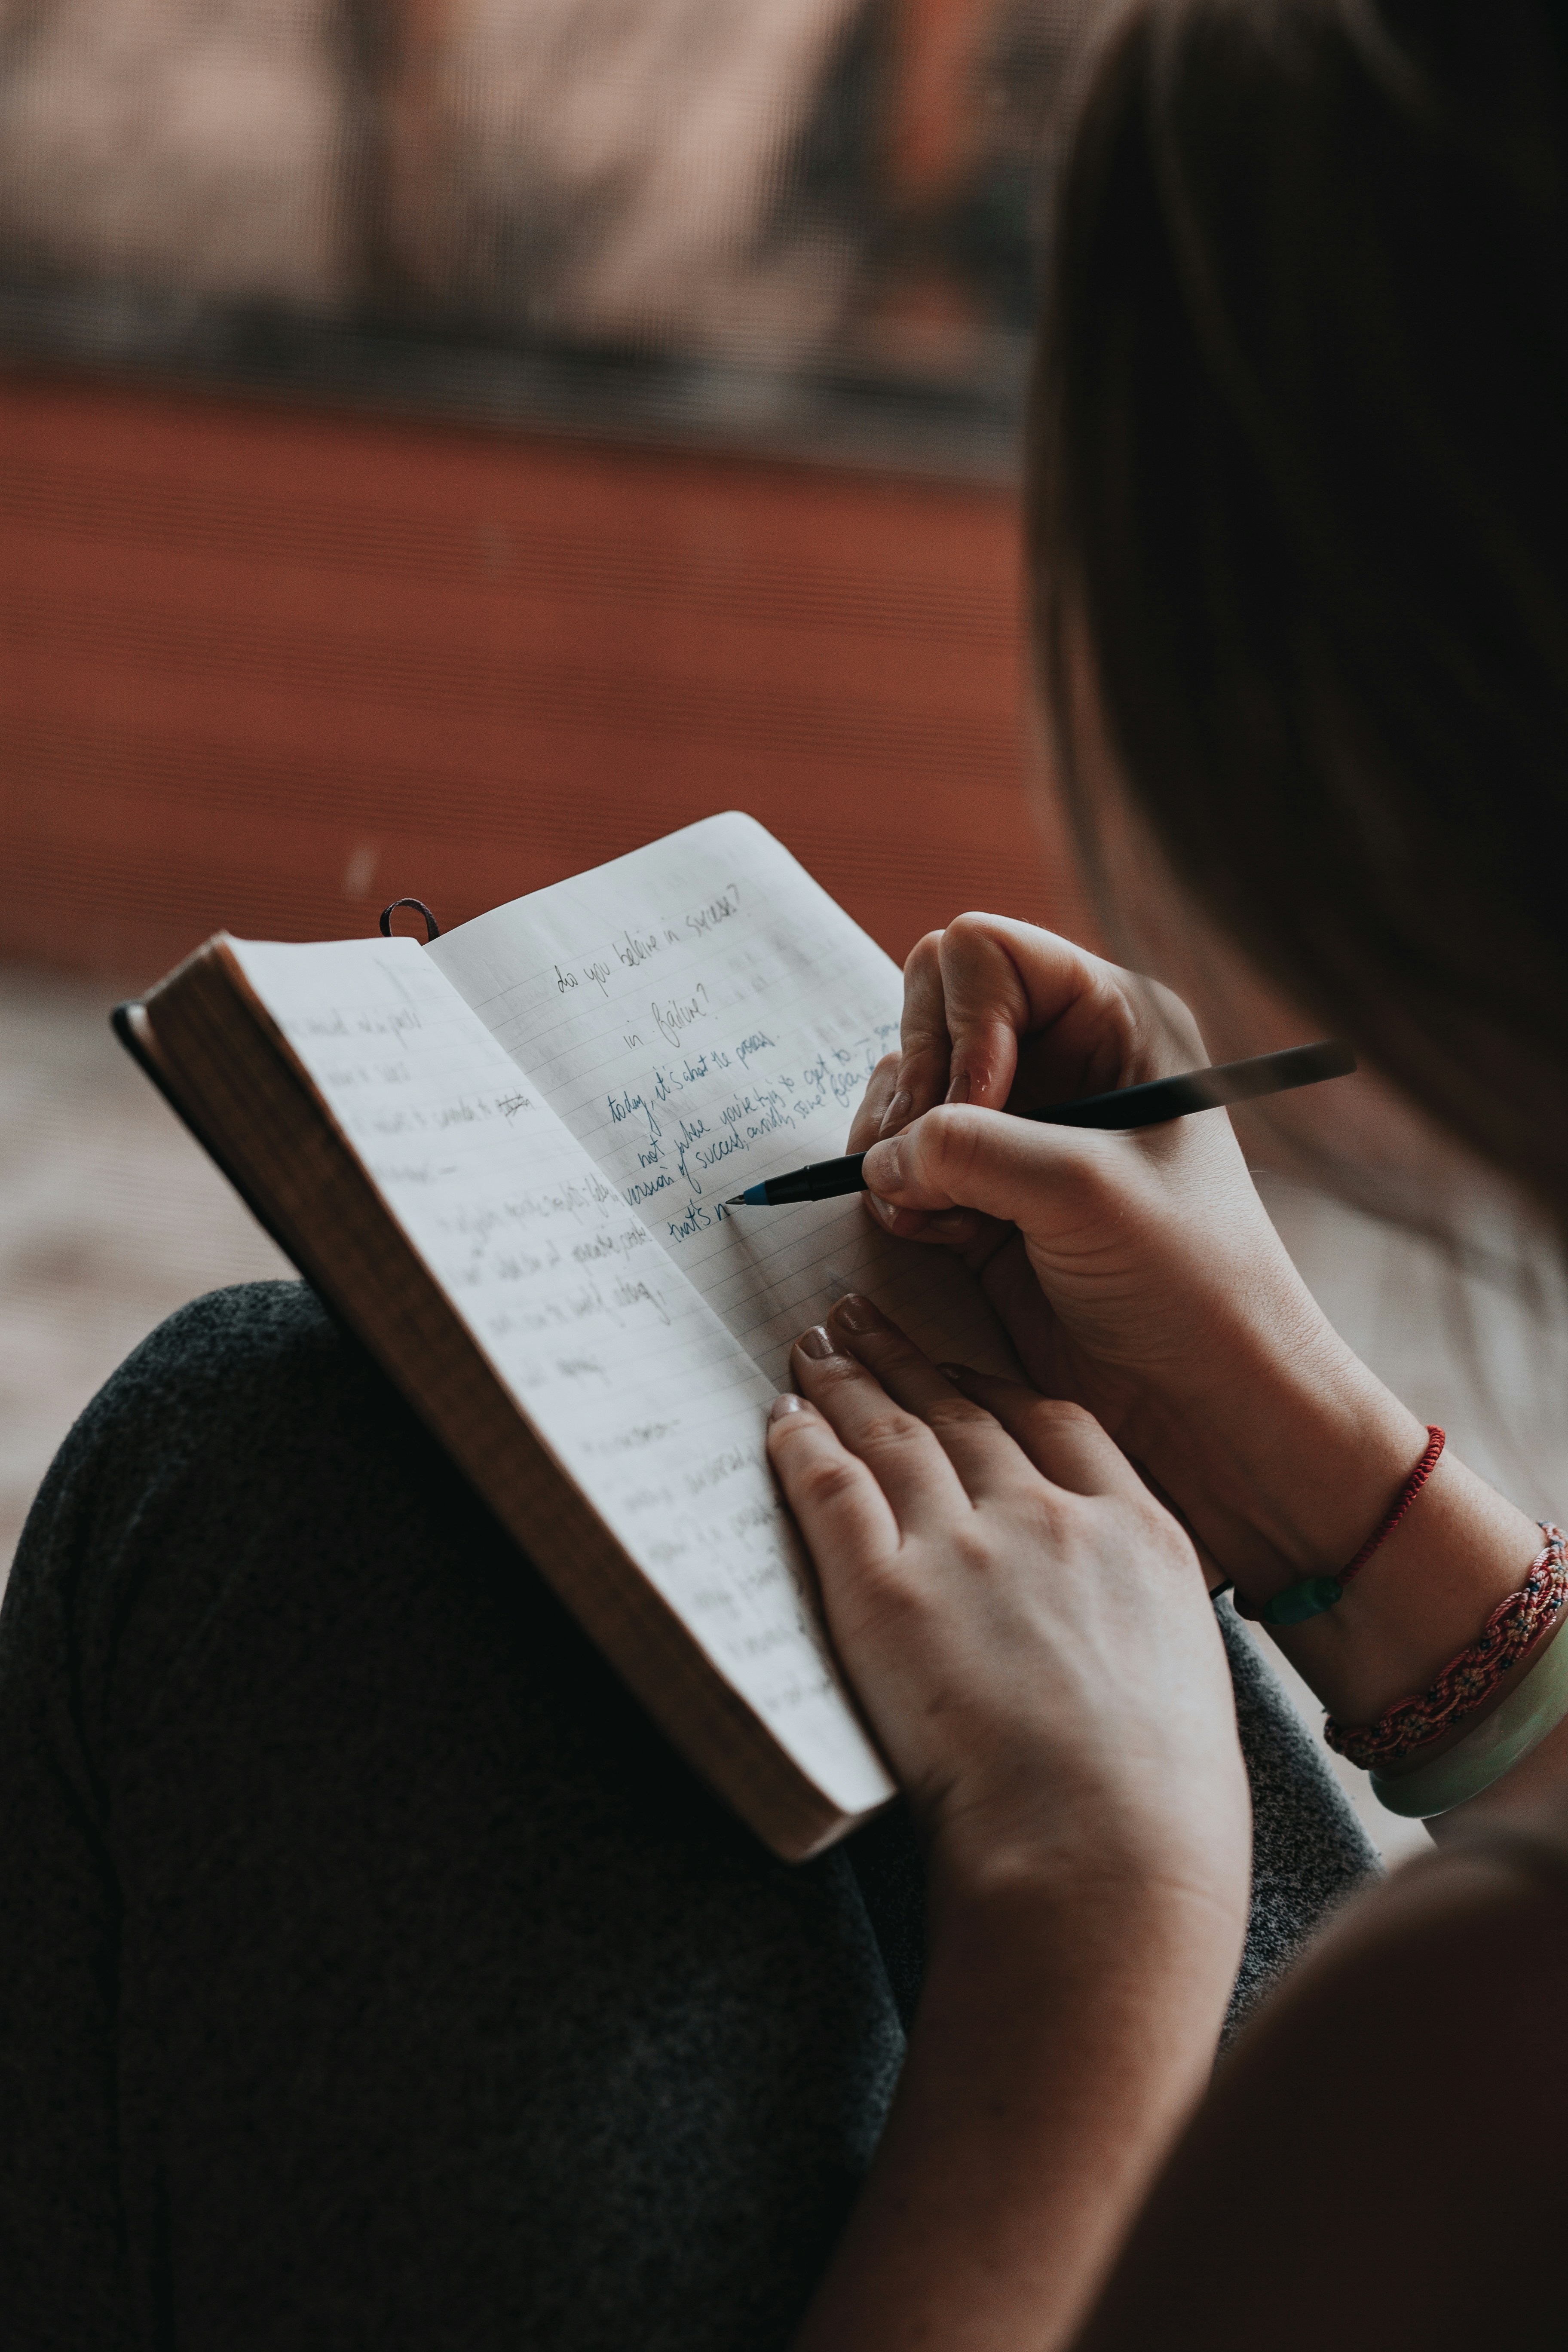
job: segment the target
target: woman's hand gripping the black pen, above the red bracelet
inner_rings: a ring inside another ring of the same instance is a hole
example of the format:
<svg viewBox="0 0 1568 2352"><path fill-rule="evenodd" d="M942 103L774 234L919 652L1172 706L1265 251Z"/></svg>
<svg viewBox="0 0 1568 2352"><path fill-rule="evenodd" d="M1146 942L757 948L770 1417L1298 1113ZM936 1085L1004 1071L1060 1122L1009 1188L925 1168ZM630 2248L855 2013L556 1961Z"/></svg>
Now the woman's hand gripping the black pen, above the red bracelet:
<svg viewBox="0 0 1568 2352"><path fill-rule="evenodd" d="M1095 1416L1267 1592L1361 1543L1425 1442L1338 1338L1225 1112L1131 1134L1004 1117L1206 1061L1185 1004L1032 924L905 964L903 1047L849 1145L886 1230L957 1249L1030 1378Z"/></svg>

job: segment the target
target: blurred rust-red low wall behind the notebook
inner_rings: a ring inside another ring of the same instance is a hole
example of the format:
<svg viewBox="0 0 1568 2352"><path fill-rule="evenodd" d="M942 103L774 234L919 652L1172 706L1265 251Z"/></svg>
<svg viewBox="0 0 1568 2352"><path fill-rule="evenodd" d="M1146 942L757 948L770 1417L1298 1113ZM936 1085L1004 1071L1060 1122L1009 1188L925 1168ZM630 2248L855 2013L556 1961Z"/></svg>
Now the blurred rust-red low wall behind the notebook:
<svg viewBox="0 0 1568 2352"><path fill-rule="evenodd" d="M0 381L5 955L444 924L743 807L893 953L1081 927L1004 492Z"/></svg>

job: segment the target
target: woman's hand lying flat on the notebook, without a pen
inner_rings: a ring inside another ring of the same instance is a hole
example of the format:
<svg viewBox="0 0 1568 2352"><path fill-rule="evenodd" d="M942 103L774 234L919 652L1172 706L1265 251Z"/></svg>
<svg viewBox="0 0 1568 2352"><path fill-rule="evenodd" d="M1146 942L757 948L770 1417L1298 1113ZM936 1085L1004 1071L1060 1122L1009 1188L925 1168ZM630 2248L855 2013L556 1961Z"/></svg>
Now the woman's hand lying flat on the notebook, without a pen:
<svg viewBox="0 0 1568 2352"><path fill-rule="evenodd" d="M1124 1875L1239 1945L1246 1776L1178 1522L1086 1411L947 1378L867 1298L797 1343L795 1376L773 1468L943 1882Z"/></svg>

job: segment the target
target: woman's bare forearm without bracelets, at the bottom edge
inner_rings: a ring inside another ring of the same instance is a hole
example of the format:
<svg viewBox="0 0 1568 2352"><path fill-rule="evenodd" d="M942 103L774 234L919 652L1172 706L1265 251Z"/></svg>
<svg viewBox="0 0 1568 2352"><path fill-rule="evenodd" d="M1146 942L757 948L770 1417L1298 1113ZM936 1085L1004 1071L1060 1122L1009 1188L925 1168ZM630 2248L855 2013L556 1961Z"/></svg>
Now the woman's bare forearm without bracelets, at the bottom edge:
<svg viewBox="0 0 1568 2352"><path fill-rule="evenodd" d="M1147 1882L938 1893L893 2114L797 2352L1067 2343L1206 2086L1239 1933Z"/></svg>

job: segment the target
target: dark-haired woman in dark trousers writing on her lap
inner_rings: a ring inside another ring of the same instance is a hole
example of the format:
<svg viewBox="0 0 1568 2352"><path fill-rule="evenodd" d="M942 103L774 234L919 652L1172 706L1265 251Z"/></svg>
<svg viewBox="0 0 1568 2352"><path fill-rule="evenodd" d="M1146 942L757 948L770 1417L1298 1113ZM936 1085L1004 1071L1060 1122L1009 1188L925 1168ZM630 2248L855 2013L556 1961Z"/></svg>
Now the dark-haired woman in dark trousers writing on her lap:
<svg viewBox="0 0 1568 2352"><path fill-rule="evenodd" d="M1559 1230L1566 252L1568 9L1131 0L1067 125L1027 482L1105 906L1239 955ZM1561 1538L1328 1329L1220 1112L1004 1108L1206 1058L1027 924L910 960L849 1143L1027 1383L849 1298L769 1446L924 1860L893 1823L773 1863L303 1289L129 1359L0 1621L7 2345L1556 2328ZM1443 1802L1218 2070L1248 1877L1300 1865L1295 1933L1363 1849L1215 1583L1392 1802Z"/></svg>

